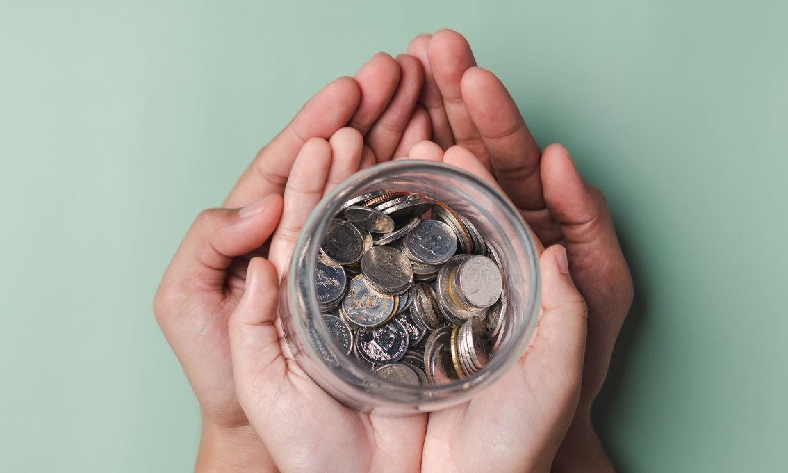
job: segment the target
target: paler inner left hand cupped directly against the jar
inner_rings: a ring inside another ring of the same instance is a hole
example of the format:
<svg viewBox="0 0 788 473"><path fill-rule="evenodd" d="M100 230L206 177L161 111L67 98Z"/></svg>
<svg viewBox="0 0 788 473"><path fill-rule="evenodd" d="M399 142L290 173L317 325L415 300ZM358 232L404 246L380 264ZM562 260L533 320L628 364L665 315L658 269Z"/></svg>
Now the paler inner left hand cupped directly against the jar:
<svg viewBox="0 0 788 473"><path fill-rule="evenodd" d="M238 400L283 471L418 471L426 415L386 418L346 408L298 366L278 319L278 274L325 192L359 169L362 136L343 128L328 142L307 141L284 189L269 260L249 264L243 297L229 322ZM394 463L392 463L394 462Z"/></svg>

